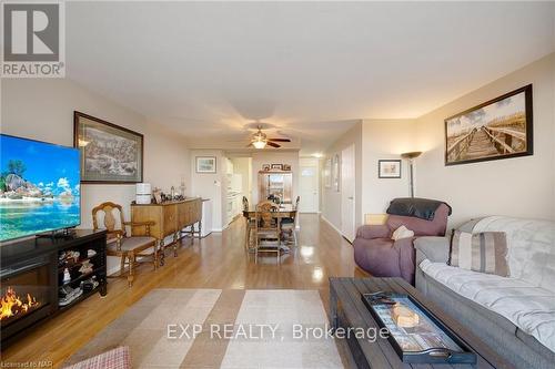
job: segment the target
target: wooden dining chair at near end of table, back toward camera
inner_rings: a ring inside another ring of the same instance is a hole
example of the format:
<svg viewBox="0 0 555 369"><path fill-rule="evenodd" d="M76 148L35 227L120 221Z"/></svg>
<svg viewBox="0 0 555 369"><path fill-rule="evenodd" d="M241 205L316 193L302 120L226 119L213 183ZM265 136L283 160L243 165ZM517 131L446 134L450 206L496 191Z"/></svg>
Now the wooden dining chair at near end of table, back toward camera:
<svg viewBox="0 0 555 369"><path fill-rule="evenodd" d="M275 217L274 204L263 202L256 205L254 216L254 262L258 263L259 253L275 253L278 263L281 256L281 225Z"/></svg>

